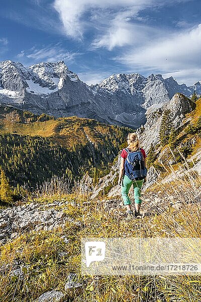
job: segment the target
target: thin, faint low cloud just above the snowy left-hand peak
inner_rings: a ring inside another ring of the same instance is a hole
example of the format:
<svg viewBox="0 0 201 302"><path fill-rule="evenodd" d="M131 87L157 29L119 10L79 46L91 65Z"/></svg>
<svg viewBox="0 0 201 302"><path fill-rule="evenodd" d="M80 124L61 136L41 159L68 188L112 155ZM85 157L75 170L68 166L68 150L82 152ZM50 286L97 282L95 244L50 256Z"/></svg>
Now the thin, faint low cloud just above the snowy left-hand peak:
<svg viewBox="0 0 201 302"><path fill-rule="evenodd" d="M71 62L74 60L75 56L79 53L66 51L64 48L60 46L60 44L56 45L48 45L44 48L37 49L36 47L32 47L29 50L22 50L17 56L22 58L32 59L33 61L48 61L48 62L56 62L65 60L67 62Z"/></svg>

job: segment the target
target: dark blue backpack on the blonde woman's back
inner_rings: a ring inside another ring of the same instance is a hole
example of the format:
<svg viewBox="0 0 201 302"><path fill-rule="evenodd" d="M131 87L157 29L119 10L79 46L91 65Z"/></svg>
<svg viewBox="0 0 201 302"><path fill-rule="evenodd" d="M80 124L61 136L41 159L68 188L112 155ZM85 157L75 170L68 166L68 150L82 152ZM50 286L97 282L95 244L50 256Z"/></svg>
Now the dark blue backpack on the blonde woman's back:
<svg viewBox="0 0 201 302"><path fill-rule="evenodd" d="M147 176L147 168L145 167L141 148L131 152L129 148L125 148L128 153L124 168L125 174L130 180L142 180Z"/></svg>

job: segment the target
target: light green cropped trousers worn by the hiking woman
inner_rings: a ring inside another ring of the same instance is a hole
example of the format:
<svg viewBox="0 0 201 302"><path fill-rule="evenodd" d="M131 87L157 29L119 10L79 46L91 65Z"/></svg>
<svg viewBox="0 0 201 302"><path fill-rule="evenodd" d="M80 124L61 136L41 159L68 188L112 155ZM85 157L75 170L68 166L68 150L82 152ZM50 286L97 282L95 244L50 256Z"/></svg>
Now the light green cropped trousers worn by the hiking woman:
<svg viewBox="0 0 201 302"><path fill-rule="evenodd" d="M144 179L130 180L127 175L124 175L122 181L122 197L124 200L124 205L131 204L131 200L128 196L128 193L132 185L134 189L135 203L141 204L142 200L140 199L140 197L141 197L141 189L142 189L143 182Z"/></svg>

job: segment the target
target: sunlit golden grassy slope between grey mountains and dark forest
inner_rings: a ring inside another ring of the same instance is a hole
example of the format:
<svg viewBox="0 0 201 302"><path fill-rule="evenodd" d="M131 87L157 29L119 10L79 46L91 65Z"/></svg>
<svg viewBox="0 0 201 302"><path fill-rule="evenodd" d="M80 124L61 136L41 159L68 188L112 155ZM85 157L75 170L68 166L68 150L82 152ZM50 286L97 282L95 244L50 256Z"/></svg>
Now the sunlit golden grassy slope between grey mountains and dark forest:
<svg viewBox="0 0 201 302"><path fill-rule="evenodd" d="M17 123L11 122L8 119L0 119L0 125L2 133L14 132L22 135L51 137L69 150L73 145L86 145L88 138L94 144L104 144L105 138L115 131L115 129L119 128L76 116L28 123Z"/></svg>

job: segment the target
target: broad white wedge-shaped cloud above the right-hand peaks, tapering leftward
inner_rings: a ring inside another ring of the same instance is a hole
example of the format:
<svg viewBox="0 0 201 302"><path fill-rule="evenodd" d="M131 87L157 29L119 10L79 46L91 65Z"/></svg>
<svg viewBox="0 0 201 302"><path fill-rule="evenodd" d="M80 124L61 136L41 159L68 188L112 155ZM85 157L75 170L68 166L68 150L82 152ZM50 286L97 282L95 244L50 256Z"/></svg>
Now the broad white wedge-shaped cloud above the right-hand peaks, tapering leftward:
<svg viewBox="0 0 201 302"><path fill-rule="evenodd" d="M133 48L118 58L131 68L176 74L178 78L190 80L190 70L201 78L201 24L191 30L152 40L144 46ZM198 80L198 79L197 79ZM192 84L192 83L191 83Z"/></svg>

